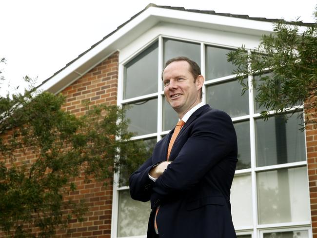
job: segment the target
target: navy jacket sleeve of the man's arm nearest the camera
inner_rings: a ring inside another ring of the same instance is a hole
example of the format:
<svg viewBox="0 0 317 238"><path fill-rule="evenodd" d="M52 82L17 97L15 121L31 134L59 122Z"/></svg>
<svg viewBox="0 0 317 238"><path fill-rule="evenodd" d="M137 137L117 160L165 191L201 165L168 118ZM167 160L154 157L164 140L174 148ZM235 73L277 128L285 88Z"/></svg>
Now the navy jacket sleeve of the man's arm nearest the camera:
<svg viewBox="0 0 317 238"><path fill-rule="evenodd" d="M214 111L202 115L195 121L191 136L176 159L156 180L151 201L161 203L173 194L192 189L236 146L235 129L231 118L226 113Z"/></svg>

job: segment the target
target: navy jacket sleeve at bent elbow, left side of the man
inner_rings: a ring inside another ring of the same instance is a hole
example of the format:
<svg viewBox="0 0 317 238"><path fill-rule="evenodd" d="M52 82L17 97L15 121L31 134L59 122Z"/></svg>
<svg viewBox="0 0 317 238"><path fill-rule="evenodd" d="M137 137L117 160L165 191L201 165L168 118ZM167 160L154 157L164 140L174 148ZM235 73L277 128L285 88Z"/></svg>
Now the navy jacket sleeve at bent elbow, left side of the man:
<svg viewBox="0 0 317 238"><path fill-rule="evenodd" d="M151 198L154 181L149 178L149 171L153 167L152 157L146 160L129 178L131 198L146 202Z"/></svg>

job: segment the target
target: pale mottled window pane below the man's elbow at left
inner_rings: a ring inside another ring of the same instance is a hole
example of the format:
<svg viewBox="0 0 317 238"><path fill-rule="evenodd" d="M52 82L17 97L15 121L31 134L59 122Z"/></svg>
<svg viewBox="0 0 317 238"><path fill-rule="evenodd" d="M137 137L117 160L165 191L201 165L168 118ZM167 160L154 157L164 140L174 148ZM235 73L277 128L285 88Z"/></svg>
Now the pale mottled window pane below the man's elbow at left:
<svg viewBox="0 0 317 238"><path fill-rule="evenodd" d="M150 206L133 200L129 190L119 191L118 237L146 235Z"/></svg>

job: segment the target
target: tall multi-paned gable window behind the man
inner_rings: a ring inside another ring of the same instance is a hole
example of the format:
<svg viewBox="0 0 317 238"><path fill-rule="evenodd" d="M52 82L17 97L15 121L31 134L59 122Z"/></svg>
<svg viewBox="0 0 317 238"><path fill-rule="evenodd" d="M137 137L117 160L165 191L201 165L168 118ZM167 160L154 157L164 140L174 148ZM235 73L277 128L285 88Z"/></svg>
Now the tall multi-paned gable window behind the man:
<svg viewBox="0 0 317 238"><path fill-rule="evenodd" d="M241 96L241 86L232 75L234 68L226 58L231 50L159 37L125 62L118 98L127 108L129 129L137 133L133 139L145 140L151 153L155 143L173 129L178 117L164 99L161 70L170 58L194 59L206 78L203 100L231 116L238 136L238 164L231 188L238 237L308 238L309 192L300 113L287 122L281 115L261 119L254 100L257 92L248 90ZM251 85L251 80L245 83ZM119 194L114 202L118 204L117 237L145 237L149 202L132 200L127 184L114 189Z"/></svg>

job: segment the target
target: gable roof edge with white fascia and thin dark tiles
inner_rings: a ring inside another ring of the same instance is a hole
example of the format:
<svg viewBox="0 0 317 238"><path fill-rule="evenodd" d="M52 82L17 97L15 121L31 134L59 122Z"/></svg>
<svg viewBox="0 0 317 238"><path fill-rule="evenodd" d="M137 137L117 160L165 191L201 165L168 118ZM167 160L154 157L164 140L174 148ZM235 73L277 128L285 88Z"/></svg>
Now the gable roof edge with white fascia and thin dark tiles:
<svg viewBox="0 0 317 238"><path fill-rule="evenodd" d="M167 11L178 11L178 14L170 14L170 12ZM191 18L190 16L185 16L186 14L200 14L200 16L203 17L200 17L198 19ZM216 18L208 19L208 17L212 18L213 16ZM229 20L224 20L223 17ZM234 21L234 19L236 20ZM100 61L106 59L112 53L114 53L120 45L123 45L127 41L124 40L124 38L129 39L129 37L131 37L132 39L134 39L136 33L145 32L146 29L154 26L159 21L177 22L183 24L190 23L191 25L197 25L200 27L201 23L205 23L204 26L206 26L207 24L212 24L213 28L215 29L221 28L221 30L225 30L225 28L227 28L230 31L235 31L234 28L237 28L237 32L243 33L245 31L248 31L249 33L250 31L252 31L253 34L261 36L265 33L272 33L272 23L277 22L278 19L255 18L249 17L248 15L216 13L215 11L185 9L184 7L160 6L150 3L142 11L131 17L123 24L119 25L116 30L106 35L104 38L92 45L86 51L82 52L76 59L73 59L72 61L67 63L63 68L54 73L50 78L44 80L38 86L38 88L40 90L46 90L52 93L58 93L62 91L65 87L83 76L87 71L97 65ZM252 24L250 23L250 21L257 22L256 24ZM295 22L286 23L294 24ZM299 24L301 26L311 26L314 23L299 22Z"/></svg>

